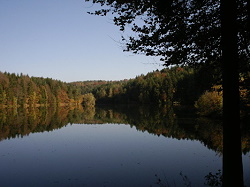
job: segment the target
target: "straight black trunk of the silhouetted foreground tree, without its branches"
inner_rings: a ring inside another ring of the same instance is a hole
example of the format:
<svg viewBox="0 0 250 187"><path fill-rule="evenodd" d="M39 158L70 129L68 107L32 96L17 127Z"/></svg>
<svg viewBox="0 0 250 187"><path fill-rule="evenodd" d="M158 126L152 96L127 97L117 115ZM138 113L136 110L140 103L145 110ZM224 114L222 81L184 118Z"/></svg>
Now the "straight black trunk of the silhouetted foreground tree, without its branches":
<svg viewBox="0 0 250 187"><path fill-rule="evenodd" d="M243 187L236 0L221 0L223 186Z"/></svg>

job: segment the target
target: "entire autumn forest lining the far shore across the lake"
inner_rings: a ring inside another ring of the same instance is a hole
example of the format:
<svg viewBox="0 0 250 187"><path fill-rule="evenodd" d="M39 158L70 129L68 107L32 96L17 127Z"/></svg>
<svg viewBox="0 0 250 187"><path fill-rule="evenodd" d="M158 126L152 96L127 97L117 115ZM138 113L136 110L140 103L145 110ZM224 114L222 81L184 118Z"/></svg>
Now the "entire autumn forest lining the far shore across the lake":
<svg viewBox="0 0 250 187"><path fill-rule="evenodd" d="M250 73L240 79L241 109L249 113ZM121 81L65 83L51 78L0 72L0 107L97 104L195 106L203 116L222 113L221 75L213 68L175 66Z"/></svg>

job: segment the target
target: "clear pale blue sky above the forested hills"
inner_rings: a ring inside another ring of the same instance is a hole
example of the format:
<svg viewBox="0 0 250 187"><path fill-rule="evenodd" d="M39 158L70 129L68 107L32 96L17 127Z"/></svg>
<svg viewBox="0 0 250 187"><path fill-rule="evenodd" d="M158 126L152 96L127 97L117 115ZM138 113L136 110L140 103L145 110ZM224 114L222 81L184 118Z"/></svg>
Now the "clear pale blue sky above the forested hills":
<svg viewBox="0 0 250 187"><path fill-rule="evenodd" d="M87 14L96 8L84 0L0 0L0 71L71 82L162 69L157 58L122 52L111 18Z"/></svg>

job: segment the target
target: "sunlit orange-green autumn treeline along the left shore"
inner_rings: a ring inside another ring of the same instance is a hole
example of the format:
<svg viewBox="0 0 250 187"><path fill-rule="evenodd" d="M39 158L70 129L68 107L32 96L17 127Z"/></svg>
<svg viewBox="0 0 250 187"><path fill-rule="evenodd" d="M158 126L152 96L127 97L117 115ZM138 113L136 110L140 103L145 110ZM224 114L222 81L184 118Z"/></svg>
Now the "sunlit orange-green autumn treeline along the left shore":
<svg viewBox="0 0 250 187"><path fill-rule="evenodd" d="M0 72L0 107L78 105L80 87L51 78Z"/></svg>

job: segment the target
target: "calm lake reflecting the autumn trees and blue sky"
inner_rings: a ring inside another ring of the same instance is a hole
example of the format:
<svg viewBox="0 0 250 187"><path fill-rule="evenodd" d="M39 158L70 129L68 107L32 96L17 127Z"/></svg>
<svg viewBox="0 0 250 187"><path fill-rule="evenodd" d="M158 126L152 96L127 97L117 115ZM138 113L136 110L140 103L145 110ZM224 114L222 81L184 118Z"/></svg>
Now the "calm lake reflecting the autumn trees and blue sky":
<svg viewBox="0 0 250 187"><path fill-rule="evenodd" d="M221 122L182 113L145 106L2 111L0 186L208 186L209 173L222 169ZM248 130L242 139L250 186Z"/></svg>

